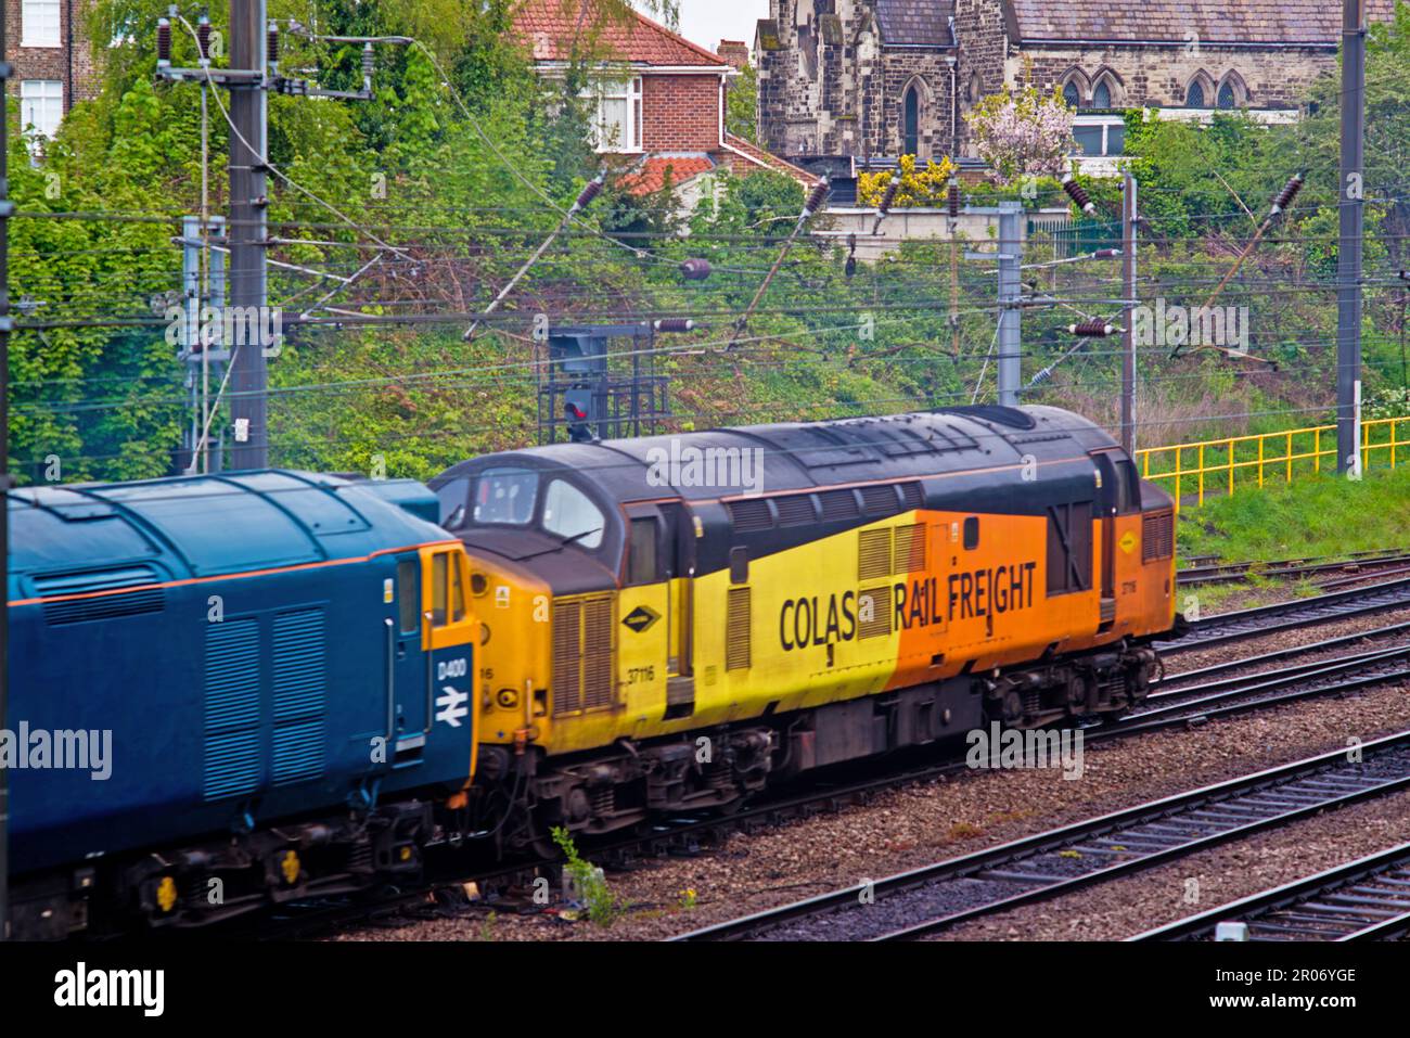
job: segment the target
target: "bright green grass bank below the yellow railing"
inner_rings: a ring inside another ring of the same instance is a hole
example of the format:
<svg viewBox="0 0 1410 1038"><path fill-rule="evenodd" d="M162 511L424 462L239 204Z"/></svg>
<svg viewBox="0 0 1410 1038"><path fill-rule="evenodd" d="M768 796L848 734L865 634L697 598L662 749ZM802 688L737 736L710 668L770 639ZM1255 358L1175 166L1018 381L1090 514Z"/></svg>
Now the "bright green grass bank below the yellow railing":
<svg viewBox="0 0 1410 1038"><path fill-rule="evenodd" d="M1355 551L1410 550L1410 468L1372 470L1359 482L1331 475L1244 489L1183 508L1176 535L1180 558L1222 563L1347 557ZM1183 563L1182 563L1183 566ZM1334 574L1328 574L1334 575ZM1258 605L1314 595L1313 578L1251 575L1239 584L1198 588L1201 609Z"/></svg>

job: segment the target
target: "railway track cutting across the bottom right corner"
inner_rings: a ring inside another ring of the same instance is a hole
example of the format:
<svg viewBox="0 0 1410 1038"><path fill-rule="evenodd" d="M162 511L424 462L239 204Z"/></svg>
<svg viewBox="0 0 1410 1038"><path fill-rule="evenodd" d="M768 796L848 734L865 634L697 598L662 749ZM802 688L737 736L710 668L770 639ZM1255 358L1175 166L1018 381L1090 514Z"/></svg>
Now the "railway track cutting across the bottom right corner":
<svg viewBox="0 0 1410 1038"><path fill-rule="evenodd" d="M1396 941L1410 935L1410 843L1220 905L1131 941Z"/></svg>

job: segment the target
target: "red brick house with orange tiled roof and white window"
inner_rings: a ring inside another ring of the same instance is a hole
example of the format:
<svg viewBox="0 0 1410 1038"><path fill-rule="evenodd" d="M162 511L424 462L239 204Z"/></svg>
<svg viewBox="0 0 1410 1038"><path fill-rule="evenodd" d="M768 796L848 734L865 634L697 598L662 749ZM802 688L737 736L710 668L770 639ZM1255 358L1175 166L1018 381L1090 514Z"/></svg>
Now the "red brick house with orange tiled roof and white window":
<svg viewBox="0 0 1410 1038"><path fill-rule="evenodd" d="M588 92L594 144L629 172L633 193L660 190L667 181L682 206L712 192L716 173L773 169L805 186L811 173L725 130L725 90L737 75L730 61L698 47L642 14L622 21L594 0L526 0L515 31L541 76L563 76L584 39L603 55Z"/></svg>

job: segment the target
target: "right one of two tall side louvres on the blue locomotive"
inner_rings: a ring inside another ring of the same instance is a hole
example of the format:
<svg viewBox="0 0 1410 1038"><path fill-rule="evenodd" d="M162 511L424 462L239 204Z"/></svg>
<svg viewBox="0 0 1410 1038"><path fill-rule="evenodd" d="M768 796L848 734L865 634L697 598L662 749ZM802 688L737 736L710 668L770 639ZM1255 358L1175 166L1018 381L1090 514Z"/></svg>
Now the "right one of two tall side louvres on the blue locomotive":
<svg viewBox="0 0 1410 1038"><path fill-rule="evenodd" d="M323 774L327 635L323 609L274 618L274 783Z"/></svg>

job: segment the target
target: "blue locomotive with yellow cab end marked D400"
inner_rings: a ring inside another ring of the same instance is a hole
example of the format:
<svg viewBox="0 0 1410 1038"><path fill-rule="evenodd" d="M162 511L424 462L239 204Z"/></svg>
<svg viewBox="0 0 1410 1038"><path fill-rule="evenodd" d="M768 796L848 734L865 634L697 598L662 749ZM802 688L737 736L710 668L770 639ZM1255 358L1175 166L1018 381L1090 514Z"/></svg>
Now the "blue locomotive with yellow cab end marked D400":
<svg viewBox="0 0 1410 1038"><path fill-rule="evenodd" d="M417 870L479 712L436 515L415 482L292 471L13 491L13 935Z"/></svg>

